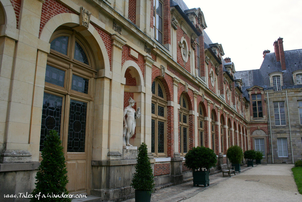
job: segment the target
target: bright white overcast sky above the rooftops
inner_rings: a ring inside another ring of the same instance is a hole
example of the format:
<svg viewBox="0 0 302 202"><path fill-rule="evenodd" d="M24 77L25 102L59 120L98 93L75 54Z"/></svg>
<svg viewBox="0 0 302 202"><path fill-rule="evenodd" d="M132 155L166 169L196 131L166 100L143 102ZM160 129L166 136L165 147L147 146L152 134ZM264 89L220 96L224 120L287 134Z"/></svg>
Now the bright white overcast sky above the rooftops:
<svg viewBox="0 0 302 202"><path fill-rule="evenodd" d="M302 0L183 0L189 9L201 8L213 43L236 71L259 69L263 51L274 51L283 38L284 51L302 49Z"/></svg>

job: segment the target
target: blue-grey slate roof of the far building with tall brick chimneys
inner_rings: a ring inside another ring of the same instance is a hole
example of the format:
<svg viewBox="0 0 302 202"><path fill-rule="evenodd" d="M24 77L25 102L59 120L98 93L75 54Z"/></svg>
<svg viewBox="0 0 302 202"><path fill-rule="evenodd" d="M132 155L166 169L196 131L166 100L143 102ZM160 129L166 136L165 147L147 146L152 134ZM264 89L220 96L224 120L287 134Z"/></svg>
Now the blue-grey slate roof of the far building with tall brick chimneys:
<svg viewBox="0 0 302 202"><path fill-rule="evenodd" d="M237 71L237 78L242 78L244 86L266 85L270 87L268 74L283 72L283 85L294 85L292 72L302 69L302 49L284 51L286 70L281 69L281 63L276 61L275 53L267 53L260 69Z"/></svg>

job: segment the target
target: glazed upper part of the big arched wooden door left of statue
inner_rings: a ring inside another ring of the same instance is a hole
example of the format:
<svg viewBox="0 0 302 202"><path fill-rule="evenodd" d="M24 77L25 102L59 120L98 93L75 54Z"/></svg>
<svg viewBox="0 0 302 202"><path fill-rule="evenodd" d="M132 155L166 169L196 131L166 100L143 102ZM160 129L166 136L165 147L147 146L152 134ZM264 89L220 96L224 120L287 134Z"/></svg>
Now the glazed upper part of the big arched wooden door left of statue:
<svg viewBox="0 0 302 202"><path fill-rule="evenodd" d="M40 151L48 131L54 129L67 152L85 152L95 71L83 41L71 30L53 34L45 73Z"/></svg>

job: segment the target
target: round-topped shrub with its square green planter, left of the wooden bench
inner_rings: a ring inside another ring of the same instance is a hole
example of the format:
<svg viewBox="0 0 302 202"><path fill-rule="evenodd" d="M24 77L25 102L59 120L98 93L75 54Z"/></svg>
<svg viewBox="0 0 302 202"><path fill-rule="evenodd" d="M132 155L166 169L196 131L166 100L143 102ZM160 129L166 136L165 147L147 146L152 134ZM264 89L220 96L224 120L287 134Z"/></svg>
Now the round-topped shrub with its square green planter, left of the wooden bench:
<svg viewBox="0 0 302 202"><path fill-rule="evenodd" d="M193 186L203 184L209 186L210 168L217 163L214 151L207 147L193 147L185 155L185 166L193 170Z"/></svg>

